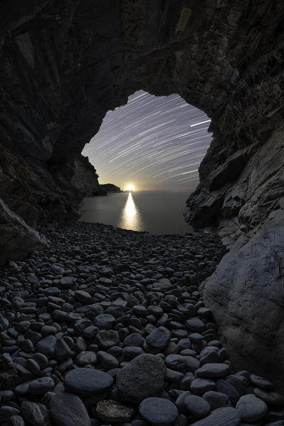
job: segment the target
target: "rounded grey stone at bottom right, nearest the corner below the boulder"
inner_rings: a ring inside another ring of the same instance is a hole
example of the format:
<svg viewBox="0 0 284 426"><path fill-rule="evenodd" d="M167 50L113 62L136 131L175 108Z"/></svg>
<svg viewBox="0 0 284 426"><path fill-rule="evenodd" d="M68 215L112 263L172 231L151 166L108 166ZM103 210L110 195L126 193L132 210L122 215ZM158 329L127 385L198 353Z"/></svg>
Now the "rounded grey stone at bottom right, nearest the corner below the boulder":
<svg viewBox="0 0 284 426"><path fill-rule="evenodd" d="M256 422L256 420L260 420L265 416L268 407L263 400L250 393L243 395L238 400L236 409L244 422Z"/></svg>

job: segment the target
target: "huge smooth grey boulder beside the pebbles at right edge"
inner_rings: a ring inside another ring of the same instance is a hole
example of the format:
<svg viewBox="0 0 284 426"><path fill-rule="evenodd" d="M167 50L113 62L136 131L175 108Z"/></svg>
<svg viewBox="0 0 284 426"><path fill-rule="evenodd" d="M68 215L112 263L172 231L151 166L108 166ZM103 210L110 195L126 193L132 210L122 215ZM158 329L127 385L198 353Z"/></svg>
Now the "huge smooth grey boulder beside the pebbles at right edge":
<svg viewBox="0 0 284 426"><path fill-rule="evenodd" d="M283 388L284 212L277 210L249 239L243 237L204 283L236 368L268 376ZM277 367L276 367L277 366Z"/></svg>

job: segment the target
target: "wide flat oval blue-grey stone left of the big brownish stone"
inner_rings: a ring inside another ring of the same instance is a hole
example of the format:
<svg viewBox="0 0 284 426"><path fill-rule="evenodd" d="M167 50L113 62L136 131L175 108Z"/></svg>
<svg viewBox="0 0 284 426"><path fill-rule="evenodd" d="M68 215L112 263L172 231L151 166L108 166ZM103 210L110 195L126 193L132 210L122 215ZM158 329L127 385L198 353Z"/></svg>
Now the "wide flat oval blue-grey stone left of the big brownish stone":
<svg viewBox="0 0 284 426"><path fill-rule="evenodd" d="M65 375L66 387L79 395L92 395L110 388L111 375L94 368L75 368Z"/></svg>

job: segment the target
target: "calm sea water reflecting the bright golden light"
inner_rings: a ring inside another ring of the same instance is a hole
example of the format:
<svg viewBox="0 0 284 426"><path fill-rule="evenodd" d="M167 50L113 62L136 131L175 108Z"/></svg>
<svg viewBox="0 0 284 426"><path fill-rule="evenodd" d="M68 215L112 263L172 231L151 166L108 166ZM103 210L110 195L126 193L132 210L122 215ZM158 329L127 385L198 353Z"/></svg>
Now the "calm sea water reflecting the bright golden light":
<svg viewBox="0 0 284 426"><path fill-rule="evenodd" d="M156 235L184 235L192 229L182 216L188 197L184 192L122 192L88 197L80 209L80 220Z"/></svg>

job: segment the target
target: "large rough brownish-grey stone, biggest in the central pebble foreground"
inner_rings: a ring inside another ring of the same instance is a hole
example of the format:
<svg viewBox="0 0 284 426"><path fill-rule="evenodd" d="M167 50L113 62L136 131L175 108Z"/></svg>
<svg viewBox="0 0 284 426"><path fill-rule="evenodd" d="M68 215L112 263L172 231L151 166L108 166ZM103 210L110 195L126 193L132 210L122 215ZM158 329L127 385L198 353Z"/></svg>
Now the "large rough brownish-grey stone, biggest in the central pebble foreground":
<svg viewBox="0 0 284 426"><path fill-rule="evenodd" d="M143 353L117 373L116 384L123 398L140 402L163 390L165 374L162 358Z"/></svg>

